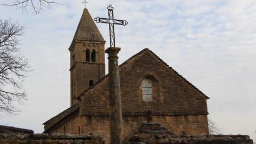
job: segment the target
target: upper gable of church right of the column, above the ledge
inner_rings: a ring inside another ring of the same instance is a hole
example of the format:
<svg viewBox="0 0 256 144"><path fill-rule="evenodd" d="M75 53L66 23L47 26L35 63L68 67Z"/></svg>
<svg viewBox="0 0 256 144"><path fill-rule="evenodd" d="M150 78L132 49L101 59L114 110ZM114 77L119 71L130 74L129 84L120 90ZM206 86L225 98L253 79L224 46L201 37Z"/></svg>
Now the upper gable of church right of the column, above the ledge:
<svg viewBox="0 0 256 144"><path fill-rule="evenodd" d="M123 111L155 115L207 114L205 95L157 57L144 50L120 68ZM149 81L148 85L143 83Z"/></svg>

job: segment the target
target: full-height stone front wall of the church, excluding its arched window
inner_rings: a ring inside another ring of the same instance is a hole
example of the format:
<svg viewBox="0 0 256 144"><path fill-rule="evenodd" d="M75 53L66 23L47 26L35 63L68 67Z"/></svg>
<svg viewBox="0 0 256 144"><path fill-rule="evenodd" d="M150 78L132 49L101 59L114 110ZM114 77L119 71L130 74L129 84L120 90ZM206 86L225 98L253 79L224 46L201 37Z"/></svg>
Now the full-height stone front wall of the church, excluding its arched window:
<svg viewBox="0 0 256 144"><path fill-rule="evenodd" d="M152 111L154 122L174 134L209 133L207 97L203 93L147 49L131 59L119 66L124 138L131 137L147 121L148 110ZM145 78L153 82L153 101L142 99L141 83ZM108 77L83 94L79 106L85 133L101 131L108 139Z"/></svg>

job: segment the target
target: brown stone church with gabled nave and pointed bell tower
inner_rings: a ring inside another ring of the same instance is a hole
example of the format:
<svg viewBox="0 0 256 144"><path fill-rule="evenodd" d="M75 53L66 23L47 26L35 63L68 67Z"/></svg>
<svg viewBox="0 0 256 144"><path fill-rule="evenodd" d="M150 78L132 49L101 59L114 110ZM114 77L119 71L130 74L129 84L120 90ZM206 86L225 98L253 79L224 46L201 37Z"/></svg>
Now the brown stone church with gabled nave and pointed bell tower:
<svg viewBox="0 0 256 144"><path fill-rule="evenodd" d="M101 133L109 142L105 40L84 9L70 52L70 108L44 123L44 133ZM124 139L148 121L173 134L208 134L209 99L149 49L119 65Z"/></svg>

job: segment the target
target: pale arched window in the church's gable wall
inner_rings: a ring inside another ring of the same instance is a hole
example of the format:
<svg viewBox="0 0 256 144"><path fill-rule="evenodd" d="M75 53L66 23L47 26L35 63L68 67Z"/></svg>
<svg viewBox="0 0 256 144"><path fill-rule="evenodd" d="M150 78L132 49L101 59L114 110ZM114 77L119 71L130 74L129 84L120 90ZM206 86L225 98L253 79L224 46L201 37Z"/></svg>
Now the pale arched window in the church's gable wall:
<svg viewBox="0 0 256 144"><path fill-rule="evenodd" d="M149 79L144 79L141 85L143 101L152 101L152 82Z"/></svg>

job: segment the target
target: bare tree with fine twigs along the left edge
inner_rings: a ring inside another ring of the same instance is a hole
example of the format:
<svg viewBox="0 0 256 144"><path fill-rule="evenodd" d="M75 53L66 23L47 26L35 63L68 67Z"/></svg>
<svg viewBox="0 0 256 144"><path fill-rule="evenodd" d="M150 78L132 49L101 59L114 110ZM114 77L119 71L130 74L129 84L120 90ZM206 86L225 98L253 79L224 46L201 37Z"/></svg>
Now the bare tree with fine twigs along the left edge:
<svg viewBox="0 0 256 144"><path fill-rule="evenodd" d="M0 19L0 113L15 114L19 110L13 102L23 103L27 98L21 83L30 70L28 60L18 53L23 30L25 27L11 19Z"/></svg>

